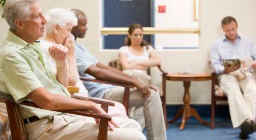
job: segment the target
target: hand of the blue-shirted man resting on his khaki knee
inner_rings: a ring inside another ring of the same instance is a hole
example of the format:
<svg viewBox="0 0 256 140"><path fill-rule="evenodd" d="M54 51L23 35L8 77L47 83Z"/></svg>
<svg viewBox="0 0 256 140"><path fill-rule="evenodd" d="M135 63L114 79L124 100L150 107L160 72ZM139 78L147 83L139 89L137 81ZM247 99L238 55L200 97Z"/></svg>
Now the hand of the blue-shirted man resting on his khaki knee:
<svg viewBox="0 0 256 140"><path fill-rule="evenodd" d="M140 81L137 81L137 83L134 86L136 86L137 89L142 91L142 94L143 94L142 97L143 98L148 98L149 97L151 89L157 91L156 87L154 87L154 86L152 86L150 84L146 85L146 84L144 84L144 83L142 83Z"/></svg>

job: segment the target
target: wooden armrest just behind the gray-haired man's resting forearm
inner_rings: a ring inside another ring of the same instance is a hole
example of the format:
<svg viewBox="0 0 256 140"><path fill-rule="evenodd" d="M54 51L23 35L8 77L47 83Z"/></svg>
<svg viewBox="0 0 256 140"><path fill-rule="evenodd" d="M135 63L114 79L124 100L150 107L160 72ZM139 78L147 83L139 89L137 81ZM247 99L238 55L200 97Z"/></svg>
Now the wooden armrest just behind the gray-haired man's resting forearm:
<svg viewBox="0 0 256 140"><path fill-rule="evenodd" d="M76 96L76 95L71 95L71 97L75 98L75 99L82 99L82 100L86 100L86 101L92 101L92 102L95 102L96 104L114 106L114 102L107 101L107 100L104 100L104 99L83 97L83 96Z"/></svg>

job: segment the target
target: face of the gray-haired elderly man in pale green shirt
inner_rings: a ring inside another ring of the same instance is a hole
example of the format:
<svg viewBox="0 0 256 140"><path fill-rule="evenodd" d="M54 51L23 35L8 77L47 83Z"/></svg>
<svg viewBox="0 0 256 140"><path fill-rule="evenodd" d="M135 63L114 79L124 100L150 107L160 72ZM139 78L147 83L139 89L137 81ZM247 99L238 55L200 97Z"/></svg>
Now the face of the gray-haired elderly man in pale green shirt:
<svg viewBox="0 0 256 140"><path fill-rule="evenodd" d="M23 32L36 41L44 35L46 19L38 2L30 6L30 11L30 18L23 21Z"/></svg>

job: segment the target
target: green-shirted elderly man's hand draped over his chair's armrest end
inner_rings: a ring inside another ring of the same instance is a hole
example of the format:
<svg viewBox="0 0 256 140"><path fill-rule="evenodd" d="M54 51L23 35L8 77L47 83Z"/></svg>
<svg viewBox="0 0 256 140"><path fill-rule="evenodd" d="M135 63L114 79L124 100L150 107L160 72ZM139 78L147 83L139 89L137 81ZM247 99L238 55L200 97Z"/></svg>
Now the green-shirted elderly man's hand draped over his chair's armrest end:
<svg viewBox="0 0 256 140"><path fill-rule="evenodd" d="M90 109L90 111L99 113L99 114L105 114L107 115L107 112L105 112L99 105L95 104L92 105L92 108ZM99 124L99 118L95 118L96 123ZM119 126L114 122L113 119L111 119L111 121L108 121L108 127L110 128L110 130L114 130L114 127L119 128Z"/></svg>

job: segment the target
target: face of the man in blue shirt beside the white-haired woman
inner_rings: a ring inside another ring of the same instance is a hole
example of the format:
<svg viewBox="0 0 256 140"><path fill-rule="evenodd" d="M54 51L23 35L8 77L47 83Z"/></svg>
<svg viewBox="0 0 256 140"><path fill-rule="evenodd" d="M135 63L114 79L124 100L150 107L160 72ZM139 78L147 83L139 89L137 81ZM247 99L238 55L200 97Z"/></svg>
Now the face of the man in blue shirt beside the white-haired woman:
<svg viewBox="0 0 256 140"><path fill-rule="evenodd" d="M87 28L87 17L84 14L78 16L78 25L74 26L71 33L75 38L84 38L86 35Z"/></svg>

